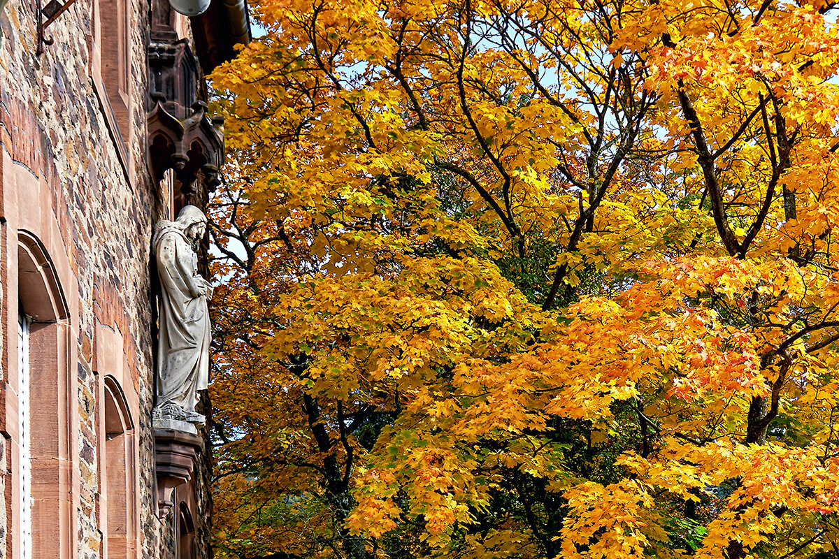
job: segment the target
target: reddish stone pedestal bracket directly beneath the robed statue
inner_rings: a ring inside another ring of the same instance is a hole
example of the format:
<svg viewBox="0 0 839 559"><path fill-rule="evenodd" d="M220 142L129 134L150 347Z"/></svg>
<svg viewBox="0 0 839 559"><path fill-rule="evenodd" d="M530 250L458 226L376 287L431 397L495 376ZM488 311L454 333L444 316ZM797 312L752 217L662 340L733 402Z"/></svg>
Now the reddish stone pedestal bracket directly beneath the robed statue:
<svg viewBox="0 0 839 559"><path fill-rule="evenodd" d="M192 478L204 440L195 425L175 419L154 420L154 466L157 476L158 516L169 515L175 488Z"/></svg>

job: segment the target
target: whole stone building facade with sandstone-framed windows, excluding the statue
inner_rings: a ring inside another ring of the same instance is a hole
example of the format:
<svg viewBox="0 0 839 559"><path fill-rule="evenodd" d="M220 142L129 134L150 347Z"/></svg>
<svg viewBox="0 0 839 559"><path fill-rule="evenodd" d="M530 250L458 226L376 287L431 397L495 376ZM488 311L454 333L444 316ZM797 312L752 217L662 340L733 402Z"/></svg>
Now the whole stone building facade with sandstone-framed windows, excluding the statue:
<svg viewBox="0 0 839 559"><path fill-rule="evenodd" d="M0 0L0 558L210 554L206 448L155 431L154 223L217 184L204 75L244 0Z"/></svg>

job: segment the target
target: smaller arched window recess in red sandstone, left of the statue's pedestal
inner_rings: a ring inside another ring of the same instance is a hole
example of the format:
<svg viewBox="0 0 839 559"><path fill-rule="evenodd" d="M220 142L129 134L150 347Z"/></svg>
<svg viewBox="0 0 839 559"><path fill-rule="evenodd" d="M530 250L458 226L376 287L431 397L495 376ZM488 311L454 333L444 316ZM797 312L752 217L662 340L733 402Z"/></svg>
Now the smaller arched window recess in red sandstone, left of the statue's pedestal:
<svg viewBox="0 0 839 559"><path fill-rule="evenodd" d="M102 456L102 489L107 510L105 556L126 559L137 554L134 504L134 424L128 402L117 380L104 382L105 443Z"/></svg>

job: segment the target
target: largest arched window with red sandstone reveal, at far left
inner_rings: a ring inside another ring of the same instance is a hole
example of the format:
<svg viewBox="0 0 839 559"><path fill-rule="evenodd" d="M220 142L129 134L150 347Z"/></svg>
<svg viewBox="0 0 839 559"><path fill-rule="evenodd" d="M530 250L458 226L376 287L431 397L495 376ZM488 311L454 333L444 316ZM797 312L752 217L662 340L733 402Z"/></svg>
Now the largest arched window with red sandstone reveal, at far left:
<svg viewBox="0 0 839 559"><path fill-rule="evenodd" d="M69 312L44 245L18 231L17 556L70 557ZM74 371L75 372L75 371ZM14 438L14 437L13 437Z"/></svg>

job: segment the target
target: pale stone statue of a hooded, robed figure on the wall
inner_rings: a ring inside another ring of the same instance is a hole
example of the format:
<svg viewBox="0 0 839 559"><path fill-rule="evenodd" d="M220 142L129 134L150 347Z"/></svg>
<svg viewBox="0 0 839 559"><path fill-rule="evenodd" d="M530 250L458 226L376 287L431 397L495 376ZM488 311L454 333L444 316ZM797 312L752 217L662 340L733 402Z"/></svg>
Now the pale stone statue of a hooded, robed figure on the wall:
<svg viewBox="0 0 839 559"><path fill-rule="evenodd" d="M161 287L154 419L176 429L172 422L187 422L189 431L195 430L189 423L204 423L195 404L209 380L212 287L198 273L196 254L206 223L201 210L187 205L177 220L154 225L152 241Z"/></svg>

